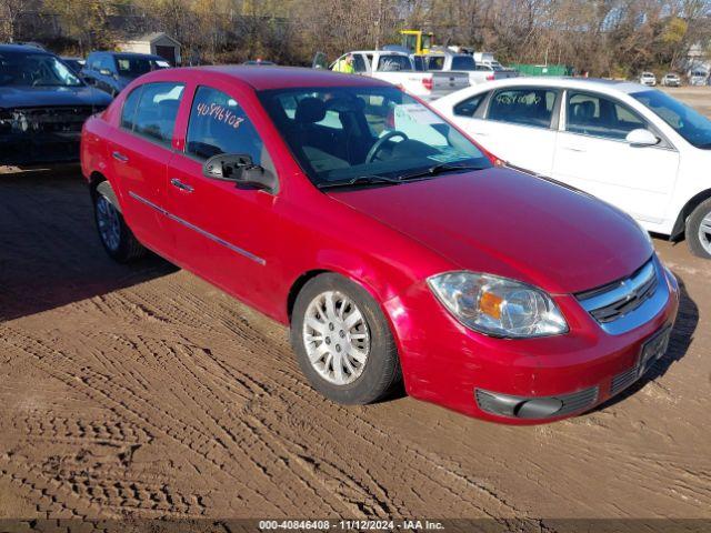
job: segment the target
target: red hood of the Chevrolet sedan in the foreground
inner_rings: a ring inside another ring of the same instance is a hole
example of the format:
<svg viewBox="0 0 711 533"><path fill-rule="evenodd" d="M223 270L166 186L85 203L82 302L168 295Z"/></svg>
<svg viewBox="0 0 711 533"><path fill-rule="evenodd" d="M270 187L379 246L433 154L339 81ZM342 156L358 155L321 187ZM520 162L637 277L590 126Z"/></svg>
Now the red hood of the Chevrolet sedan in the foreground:
<svg viewBox="0 0 711 533"><path fill-rule="evenodd" d="M517 279L551 293L631 274L653 250L637 223L580 191L487 169L329 195L417 240L454 268Z"/></svg>

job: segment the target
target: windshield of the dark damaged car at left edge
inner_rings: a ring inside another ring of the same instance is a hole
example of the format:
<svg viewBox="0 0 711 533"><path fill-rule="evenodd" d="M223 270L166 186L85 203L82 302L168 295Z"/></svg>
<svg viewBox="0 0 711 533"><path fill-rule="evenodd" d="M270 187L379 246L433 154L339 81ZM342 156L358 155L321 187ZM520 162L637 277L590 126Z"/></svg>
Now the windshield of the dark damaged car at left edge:
<svg viewBox="0 0 711 533"><path fill-rule="evenodd" d="M49 53L0 52L0 86L81 87L83 82Z"/></svg>

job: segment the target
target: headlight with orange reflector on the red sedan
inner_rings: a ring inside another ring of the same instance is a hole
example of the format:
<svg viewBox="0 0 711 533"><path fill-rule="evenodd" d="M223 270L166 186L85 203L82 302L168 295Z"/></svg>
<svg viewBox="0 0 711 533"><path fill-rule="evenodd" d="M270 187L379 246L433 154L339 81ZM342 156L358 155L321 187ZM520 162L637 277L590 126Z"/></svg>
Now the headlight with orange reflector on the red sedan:
<svg viewBox="0 0 711 533"><path fill-rule="evenodd" d="M428 283L457 320L480 333L523 339L568 332L551 296L525 283L473 272L433 275Z"/></svg>

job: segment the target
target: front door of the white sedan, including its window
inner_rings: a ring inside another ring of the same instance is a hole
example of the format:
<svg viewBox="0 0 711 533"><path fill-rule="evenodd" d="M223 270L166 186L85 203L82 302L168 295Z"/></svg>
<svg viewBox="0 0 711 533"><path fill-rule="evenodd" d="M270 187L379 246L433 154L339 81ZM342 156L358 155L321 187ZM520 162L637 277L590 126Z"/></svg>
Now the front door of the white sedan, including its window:
<svg viewBox="0 0 711 533"><path fill-rule="evenodd" d="M679 152L668 141L635 147L625 137L642 128L661 133L625 103L595 92L567 93L553 177L599 197L635 219L660 223L673 191Z"/></svg>

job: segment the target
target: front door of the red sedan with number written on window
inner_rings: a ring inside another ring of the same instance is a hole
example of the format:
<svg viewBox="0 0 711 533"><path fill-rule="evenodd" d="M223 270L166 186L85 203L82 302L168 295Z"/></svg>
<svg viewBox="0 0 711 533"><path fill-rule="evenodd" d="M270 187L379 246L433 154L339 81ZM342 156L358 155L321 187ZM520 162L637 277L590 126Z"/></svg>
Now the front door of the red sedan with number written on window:
<svg viewBox="0 0 711 533"><path fill-rule="evenodd" d="M267 259L279 249L273 215L277 195L202 173L204 161L220 153L247 154L254 164L276 172L238 98L230 87L196 89L184 149L170 163L168 209L178 262L261 306L268 288L276 283Z"/></svg>

